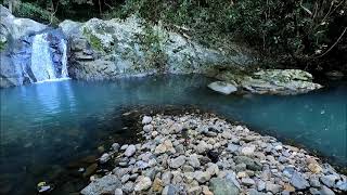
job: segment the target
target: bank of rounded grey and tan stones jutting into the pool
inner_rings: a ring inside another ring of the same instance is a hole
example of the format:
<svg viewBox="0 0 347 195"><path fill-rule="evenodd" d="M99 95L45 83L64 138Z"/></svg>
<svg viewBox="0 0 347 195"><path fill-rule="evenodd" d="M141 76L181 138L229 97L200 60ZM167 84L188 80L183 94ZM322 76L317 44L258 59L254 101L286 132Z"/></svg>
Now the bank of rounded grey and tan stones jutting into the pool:
<svg viewBox="0 0 347 195"><path fill-rule="evenodd" d="M347 177L305 150L211 114L143 116L139 144L113 144L81 194L344 194Z"/></svg>

